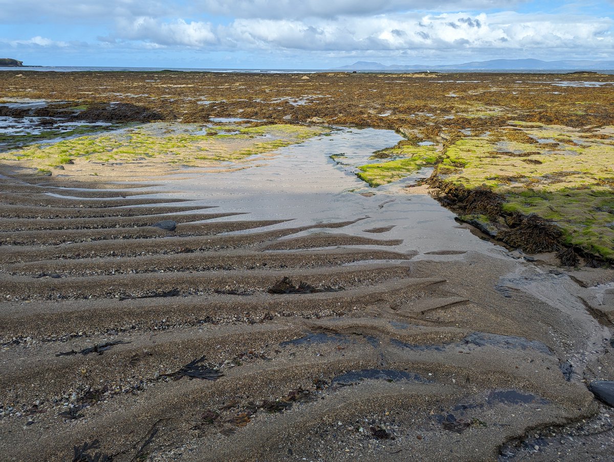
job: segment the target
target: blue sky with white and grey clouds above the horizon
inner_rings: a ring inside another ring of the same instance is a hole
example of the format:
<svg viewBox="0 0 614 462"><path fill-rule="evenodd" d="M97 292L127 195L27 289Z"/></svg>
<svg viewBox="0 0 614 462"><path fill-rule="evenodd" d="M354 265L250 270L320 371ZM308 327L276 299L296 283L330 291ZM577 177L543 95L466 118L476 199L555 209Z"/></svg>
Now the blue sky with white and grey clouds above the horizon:
<svg viewBox="0 0 614 462"><path fill-rule="evenodd" d="M229 69L614 60L614 0L0 0L0 57Z"/></svg>

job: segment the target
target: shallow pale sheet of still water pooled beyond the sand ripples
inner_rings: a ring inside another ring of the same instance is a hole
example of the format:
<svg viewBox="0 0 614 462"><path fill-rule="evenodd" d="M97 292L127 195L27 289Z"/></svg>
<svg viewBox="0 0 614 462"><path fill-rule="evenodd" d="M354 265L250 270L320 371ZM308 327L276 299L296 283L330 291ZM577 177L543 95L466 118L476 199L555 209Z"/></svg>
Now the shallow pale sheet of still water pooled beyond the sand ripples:
<svg viewBox="0 0 614 462"><path fill-rule="evenodd" d="M427 177L423 169L415 177L371 188L356 176L356 166L372 163L370 156L397 144L402 137L391 130L335 129L302 144L255 158L251 167L234 172L177 174L165 180L165 191L219 206L219 212L243 212L246 220L293 218L292 226L365 218L330 233L373 237L371 228L391 226L381 239L403 239L394 250L420 252L477 250L501 255L498 247L458 228L454 215L427 194L410 194L406 185ZM339 155L343 164L331 159ZM230 219L230 218L228 218ZM232 218L236 220L236 217ZM222 219L225 220L225 219ZM276 228L288 224L276 225ZM303 234L317 232L305 231ZM241 231L249 233L253 231ZM426 256L433 258L432 255ZM425 258L426 258L425 257ZM461 254L442 258L462 258Z"/></svg>

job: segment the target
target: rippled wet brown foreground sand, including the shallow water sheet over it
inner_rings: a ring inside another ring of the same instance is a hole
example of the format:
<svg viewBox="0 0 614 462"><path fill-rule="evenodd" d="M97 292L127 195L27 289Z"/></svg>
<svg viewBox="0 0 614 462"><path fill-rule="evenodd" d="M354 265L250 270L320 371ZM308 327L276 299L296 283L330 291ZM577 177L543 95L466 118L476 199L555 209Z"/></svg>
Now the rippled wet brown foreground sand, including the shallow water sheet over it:
<svg viewBox="0 0 614 462"><path fill-rule="evenodd" d="M587 384L614 379L614 271L484 240L415 179L368 188L352 160L397 141L131 183L4 168L6 460L609 460Z"/></svg>

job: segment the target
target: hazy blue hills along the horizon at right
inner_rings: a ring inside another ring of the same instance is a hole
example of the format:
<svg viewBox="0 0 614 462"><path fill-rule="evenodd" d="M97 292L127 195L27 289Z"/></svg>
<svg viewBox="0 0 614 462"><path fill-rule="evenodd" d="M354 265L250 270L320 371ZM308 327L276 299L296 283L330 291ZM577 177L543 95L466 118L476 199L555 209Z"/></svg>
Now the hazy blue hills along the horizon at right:
<svg viewBox="0 0 614 462"><path fill-rule="evenodd" d="M591 71L594 69L614 69L614 61L541 61L541 60L489 60L471 61L462 64L443 64L429 66L426 64L402 64L373 63L370 61L357 61L348 66L335 67L335 70L343 71Z"/></svg>

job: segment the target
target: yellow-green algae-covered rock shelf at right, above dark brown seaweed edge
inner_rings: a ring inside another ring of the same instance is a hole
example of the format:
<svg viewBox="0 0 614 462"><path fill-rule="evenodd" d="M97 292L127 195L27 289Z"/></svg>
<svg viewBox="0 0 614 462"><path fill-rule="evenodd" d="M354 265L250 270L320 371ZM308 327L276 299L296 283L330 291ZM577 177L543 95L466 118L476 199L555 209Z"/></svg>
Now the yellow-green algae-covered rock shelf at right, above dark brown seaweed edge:
<svg viewBox="0 0 614 462"><path fill-rule="evenodd" d="M445 184L486 188L503 198L503 213L551 220L565 245L614 258L612 137L563 126L515 125L526 132L516 139L568 144L543 150L539 142L501 141L506 137L501 130L488 137L465 137L445 148L434 175ZM583 145L572 145L580 138Z"/></svg>

